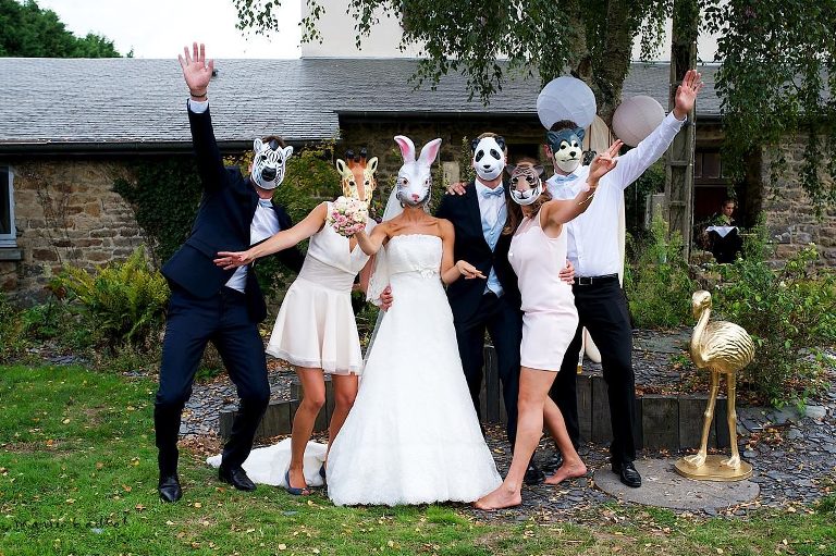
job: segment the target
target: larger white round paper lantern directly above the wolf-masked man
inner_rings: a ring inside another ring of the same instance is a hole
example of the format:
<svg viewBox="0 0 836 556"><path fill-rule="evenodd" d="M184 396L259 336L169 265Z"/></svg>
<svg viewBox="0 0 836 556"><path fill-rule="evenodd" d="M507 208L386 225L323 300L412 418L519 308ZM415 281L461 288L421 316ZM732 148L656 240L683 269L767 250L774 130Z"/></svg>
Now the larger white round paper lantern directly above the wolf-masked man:
<svg viewBox="0 0 836 556"><path fill-rule="evenodd" d="M537 97L537 115L549 129L561 120L571 120L586 127L595 118L595 95L580 79L564 75L549 82Z"/></svg>

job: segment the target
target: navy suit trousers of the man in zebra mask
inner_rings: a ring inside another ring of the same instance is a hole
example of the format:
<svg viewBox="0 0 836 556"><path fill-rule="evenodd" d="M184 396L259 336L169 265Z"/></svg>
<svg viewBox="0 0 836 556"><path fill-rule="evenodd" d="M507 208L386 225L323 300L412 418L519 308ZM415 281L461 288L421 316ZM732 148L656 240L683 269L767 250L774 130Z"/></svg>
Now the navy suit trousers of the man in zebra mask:
<svg viewBox="0 0 836 556"><path fill-rule="evenodd" d="M223 448L224 467L238 467L247 459L270 400L265 346L257 323L249 318L245 295L223 287L204 299L172 285L153 410L163 474L176 471L181 412L192 395L208 342L218 349L241 398L232 434Z"/></svg>

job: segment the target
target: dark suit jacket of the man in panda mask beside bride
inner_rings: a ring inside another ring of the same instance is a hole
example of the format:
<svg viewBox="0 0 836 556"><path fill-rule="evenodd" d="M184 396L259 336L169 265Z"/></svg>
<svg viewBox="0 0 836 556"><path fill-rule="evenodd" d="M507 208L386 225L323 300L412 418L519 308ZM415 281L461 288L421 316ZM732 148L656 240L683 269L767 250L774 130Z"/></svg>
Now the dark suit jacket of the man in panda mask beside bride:
<svg viewBox="0 0 836 556"><path fill-rule="evenodd" d="M479 211L477 195L476 185L470 182L465 188L465 195L444 195L435 215L453 223L456 232L453 247L454 260L466 260L485 276L491 269L494 269L505 292L504 296L514 307L519 308L517 275L508 262L508 248L513 235L501 235L496 242L496 248L491 251L482 233L482 217ZM505 202L508 205L513 202L507 193L505 194ZM456 323L463 325L470 323L479 309L484 294L484 280L459 279L447 286L447 299Z"/></svg>

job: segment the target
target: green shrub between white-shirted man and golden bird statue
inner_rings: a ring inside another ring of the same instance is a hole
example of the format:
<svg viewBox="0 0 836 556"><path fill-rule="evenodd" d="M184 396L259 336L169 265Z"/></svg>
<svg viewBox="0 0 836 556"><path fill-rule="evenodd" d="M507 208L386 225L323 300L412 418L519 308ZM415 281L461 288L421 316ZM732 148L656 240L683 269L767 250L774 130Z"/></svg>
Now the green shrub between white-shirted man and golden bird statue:
<svg viewBox="0 0 836 556"><path fill-rule="evenodd" d="M694 282L688 275L678 232L668 238L662 217L653 225L643 245L628 240L631 263L625 265L624 289L634 323L639 328L673 328L686 323Z"/></svg>

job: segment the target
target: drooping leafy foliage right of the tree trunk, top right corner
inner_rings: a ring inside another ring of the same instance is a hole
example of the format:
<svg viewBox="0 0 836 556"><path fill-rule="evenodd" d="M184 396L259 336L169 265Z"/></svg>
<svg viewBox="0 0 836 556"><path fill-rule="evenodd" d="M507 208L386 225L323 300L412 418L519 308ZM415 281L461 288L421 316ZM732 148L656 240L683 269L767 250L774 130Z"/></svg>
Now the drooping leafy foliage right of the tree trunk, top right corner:
<svg viewBox="0 0 836 556"><path fill-rule="evenodd" d="M704 1L706 28L722 34L716 89L725 168L741 177L753 149L799 137L807 145L799 172L804 190L820 210L836 202L836 0ZM777 155L774 175L787 162Z"/></svg>

